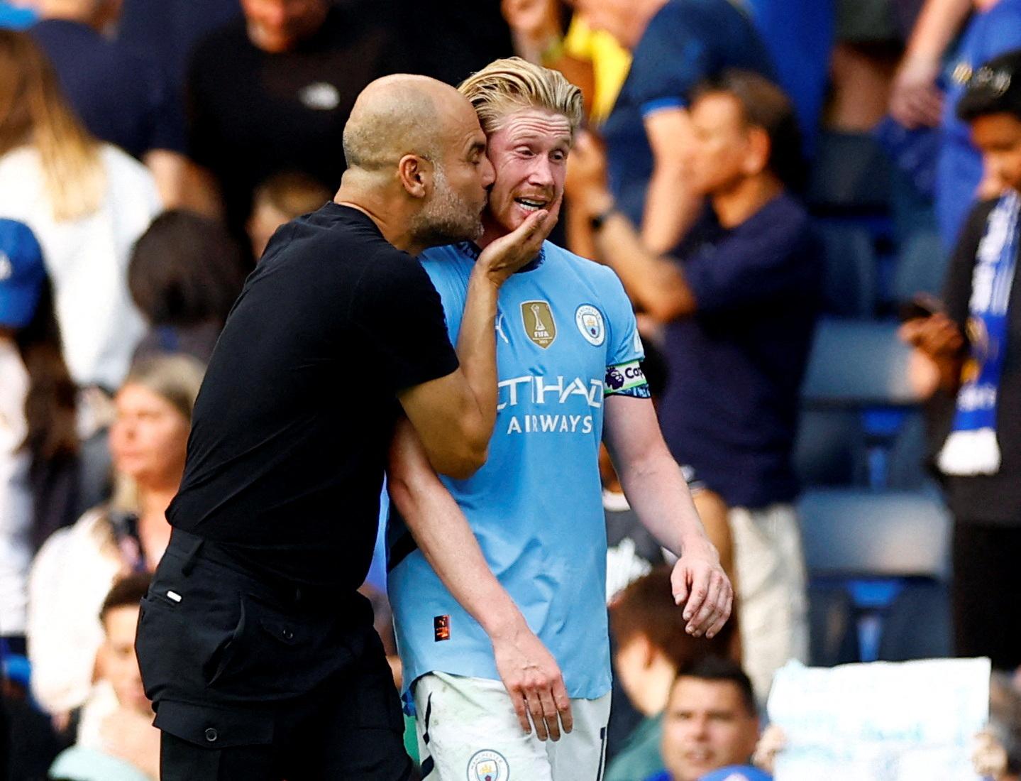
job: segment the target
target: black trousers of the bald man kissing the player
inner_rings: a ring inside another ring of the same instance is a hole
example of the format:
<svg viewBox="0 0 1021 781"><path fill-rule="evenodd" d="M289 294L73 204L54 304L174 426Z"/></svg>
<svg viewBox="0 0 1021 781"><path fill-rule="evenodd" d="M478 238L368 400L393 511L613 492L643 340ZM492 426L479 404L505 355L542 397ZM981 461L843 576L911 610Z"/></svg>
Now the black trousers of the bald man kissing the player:
<svg viewBox="0 0 1021 781"><path fill-rule="evenodd" d="M136 649L162 781L404 781L390 668L357 594L269 583L175 531Z"/></svg>

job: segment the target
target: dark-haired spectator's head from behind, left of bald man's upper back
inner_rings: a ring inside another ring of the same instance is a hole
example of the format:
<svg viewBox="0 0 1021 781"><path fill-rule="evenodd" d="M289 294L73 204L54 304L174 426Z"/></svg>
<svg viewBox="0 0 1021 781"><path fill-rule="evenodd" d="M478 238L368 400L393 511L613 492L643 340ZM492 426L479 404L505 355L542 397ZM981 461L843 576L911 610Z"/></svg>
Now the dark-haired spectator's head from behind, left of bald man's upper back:
<svg viewBox="0 0 1021 781"><path fill-rule="evenodd" d="M248 265L218 222L191 212L164 212L132 251L128 285L149 331L135 360L184 353L207 363Z"/></svg>

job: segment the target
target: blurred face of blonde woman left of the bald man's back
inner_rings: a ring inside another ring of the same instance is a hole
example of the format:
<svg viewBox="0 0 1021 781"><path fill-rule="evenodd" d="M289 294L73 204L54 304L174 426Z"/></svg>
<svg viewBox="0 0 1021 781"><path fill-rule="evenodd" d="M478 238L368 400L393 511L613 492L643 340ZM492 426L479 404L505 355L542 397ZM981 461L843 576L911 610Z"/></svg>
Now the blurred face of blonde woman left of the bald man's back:
<svg viewBox="0 0 1021 781"><path fill-rule="evenodd" d="M117 471L143 488L175 488L181 481L188 447L188 419L144 385L120 388L110 426L110 454Z"/></svg>

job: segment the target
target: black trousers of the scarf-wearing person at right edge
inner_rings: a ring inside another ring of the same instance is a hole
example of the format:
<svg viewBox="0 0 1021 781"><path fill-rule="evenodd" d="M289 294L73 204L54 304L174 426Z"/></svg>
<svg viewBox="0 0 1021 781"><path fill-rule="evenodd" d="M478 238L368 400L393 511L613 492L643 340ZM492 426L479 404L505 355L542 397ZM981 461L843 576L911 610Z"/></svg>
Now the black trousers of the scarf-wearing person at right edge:
<svg viewBox="0 0 1021 781"><path fill-rule="evenodd" d="M954 652L1021 664L1021 527L954 524Z"/></svg>

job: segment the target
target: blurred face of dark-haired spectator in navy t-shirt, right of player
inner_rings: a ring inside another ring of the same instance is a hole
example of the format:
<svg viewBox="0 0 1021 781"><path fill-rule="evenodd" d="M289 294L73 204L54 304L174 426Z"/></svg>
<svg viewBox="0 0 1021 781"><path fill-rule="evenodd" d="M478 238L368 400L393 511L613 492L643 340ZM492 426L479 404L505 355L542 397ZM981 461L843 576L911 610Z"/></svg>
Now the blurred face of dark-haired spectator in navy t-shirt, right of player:
<svg viewBox="0 0 1021 781"><path fill-rule="evenodd" d="M748 127L741 105L731 95L712 92L692 104L690 117L690 186L699 195L725 192L746 174Z"/></svg>

